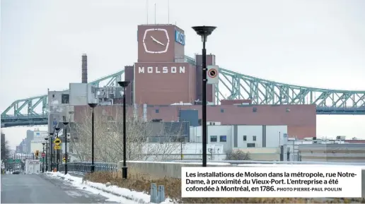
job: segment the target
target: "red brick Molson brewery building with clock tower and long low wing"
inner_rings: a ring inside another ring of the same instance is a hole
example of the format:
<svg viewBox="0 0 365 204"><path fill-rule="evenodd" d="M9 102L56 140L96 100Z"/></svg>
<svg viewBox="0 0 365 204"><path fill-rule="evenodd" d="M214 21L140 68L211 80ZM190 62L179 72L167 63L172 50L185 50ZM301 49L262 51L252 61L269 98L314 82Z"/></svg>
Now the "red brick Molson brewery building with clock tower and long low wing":
<svg viewBox="0 0 365 204"><path fill-rule="evenodd" d="M178 36L178 40L176 39ZM125 66L128 114L135 112L146 119L178 121L180 110L196 109L201 119L200 105L173 105L202 100L202 56L195 56L195 64L184 60L184 31L175 25L139 25L138 60ZM215 65L216 56L207 56L207 65ZM214 102L214 87L207 85L207 101ZM236 103L240 104L237 105ZM147 104L144 109L142 104ZM288 135L297 138L315 136L315 105L255 105L250 100L226 100L222 105L207 107L207 120L221 124L286 125ZM87 107L75 107L75 119L81 120ZM97 107L98 114L115 118L122 107Z"/></svg>

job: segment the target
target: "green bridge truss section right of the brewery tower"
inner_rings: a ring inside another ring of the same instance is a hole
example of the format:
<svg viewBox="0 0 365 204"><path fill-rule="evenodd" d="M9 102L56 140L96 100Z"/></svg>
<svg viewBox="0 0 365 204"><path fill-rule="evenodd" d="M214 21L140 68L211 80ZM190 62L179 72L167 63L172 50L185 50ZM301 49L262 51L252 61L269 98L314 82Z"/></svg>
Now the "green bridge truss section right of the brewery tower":
<svg viewBox="0 0 365 204"><path fill-rule="evenodd" d="M222 88L228 90L228 97L224 97ZM253 104L316 104L317 114L365 114L365 91L289 85L225 68L219 68L215 94L217 99L250 99Z"/></svg>

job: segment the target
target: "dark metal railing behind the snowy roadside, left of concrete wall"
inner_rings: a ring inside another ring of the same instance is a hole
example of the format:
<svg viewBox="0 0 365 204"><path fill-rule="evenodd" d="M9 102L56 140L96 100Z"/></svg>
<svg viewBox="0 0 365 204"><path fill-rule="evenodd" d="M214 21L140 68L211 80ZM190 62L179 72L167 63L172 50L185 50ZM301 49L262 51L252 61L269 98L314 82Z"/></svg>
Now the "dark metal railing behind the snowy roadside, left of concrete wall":
<svg viewBox="0 0 365 204"><path fill-rule="evenodd" d="M95 162L95 172L117 172L118 165L115 163ZM69 162L67 163L68 172L91 172L91 162ZM59 165L59 172L64 172L64 164Z"/></svg>

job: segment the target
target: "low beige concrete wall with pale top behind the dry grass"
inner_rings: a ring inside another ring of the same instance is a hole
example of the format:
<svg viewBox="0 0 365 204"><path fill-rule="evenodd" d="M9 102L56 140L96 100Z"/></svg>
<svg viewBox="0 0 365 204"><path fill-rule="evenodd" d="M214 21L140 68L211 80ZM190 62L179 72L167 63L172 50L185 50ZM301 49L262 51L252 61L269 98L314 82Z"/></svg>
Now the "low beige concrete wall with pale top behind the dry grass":
<svg viewBox="0 0 365 204"><path fill-rule="evenodd" d="M118 162L118 170L122 171L123 162ZM207 167L230 167L228 163L210 163ZM127 161L128 169L141 174L149 174L156 177L170 177L181 179L181 167L202 167L201 162L142 162Z"/></svg>

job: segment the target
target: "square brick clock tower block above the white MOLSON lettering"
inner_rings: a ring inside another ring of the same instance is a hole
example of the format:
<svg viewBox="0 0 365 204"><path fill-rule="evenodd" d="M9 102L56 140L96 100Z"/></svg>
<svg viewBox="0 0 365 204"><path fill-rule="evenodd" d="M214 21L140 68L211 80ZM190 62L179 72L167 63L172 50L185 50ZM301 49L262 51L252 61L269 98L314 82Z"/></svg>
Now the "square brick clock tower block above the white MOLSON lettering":
<svg viewBox="0 0 365 204"><path fill-rule="evenodd" d="M175 62L185 55L184 30L176 25L139 25L138 62Z"/></svg>

